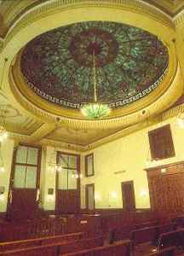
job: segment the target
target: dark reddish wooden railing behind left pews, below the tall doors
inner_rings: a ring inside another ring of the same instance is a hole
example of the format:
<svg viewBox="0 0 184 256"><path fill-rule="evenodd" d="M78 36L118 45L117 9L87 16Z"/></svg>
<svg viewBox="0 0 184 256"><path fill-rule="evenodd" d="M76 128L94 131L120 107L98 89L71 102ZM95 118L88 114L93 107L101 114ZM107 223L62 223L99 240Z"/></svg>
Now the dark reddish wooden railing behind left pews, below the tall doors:
<svg viewBox="0 0 184 256"><path fill-rule="evenodd" d="M80 231L88 236L101 235L101 218L78 215L65 218L37 218L22 222L4 222L0 224L0 241L59 236Z"/></svg>

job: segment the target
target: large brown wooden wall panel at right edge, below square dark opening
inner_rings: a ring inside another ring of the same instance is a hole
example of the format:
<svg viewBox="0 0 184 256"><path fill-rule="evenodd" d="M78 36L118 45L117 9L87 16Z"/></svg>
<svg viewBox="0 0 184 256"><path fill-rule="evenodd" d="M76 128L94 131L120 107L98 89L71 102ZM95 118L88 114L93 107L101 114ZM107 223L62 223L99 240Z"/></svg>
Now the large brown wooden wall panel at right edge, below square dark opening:
<svg viewBox="0 0 184 256"><path fill-rule="evenodd" d="M151 206L154 211L173 213L183 212L183 163L148 169L147 177Z"/></svg>

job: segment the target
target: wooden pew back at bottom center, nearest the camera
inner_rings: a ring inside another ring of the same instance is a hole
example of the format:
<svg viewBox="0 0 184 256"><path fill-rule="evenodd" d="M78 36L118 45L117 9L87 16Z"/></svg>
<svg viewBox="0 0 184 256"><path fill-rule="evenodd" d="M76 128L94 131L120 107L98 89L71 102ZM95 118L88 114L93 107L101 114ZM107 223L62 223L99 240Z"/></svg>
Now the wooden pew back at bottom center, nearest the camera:
<svg viewBox="0 0 184 256"><path fill-rule="evenodd" d="M62 256L130 256L131 241L118 241L112 245L95 247L75 253L61 254Z"/></svg>

